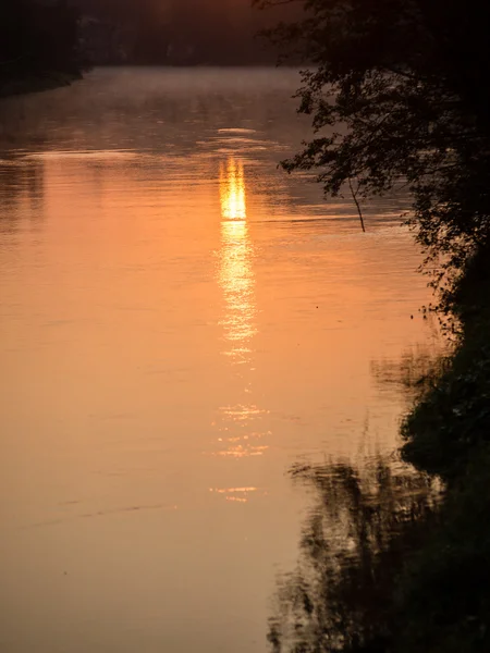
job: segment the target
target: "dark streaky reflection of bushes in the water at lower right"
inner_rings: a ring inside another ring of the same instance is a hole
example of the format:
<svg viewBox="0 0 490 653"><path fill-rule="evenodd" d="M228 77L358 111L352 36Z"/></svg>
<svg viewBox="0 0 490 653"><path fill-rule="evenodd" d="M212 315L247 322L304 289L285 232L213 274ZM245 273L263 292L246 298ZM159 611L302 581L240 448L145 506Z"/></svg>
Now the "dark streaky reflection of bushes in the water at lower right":
<svg viewBox="0 0 490 653"><path fill-rule="evenodd" d="M379 458L363 472L347 464L293 469L314 490L296 570L279 581L269 623L274 652L389 650L392 596L420 517L437 491L408 468Z"/></svg>

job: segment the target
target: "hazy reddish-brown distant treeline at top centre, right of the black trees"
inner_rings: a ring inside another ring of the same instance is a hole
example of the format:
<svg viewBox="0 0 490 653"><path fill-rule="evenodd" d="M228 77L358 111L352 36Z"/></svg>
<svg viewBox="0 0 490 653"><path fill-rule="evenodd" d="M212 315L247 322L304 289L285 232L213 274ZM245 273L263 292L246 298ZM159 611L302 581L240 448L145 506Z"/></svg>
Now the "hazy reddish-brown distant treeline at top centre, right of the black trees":
<svg viewBox="0 0 490 653"><path fill-rule="evenodd" d="M280 15L250 0L72 0L82 41L95 64L260 64L275 52L256 35Z"/></svg>

